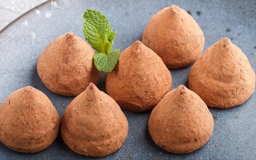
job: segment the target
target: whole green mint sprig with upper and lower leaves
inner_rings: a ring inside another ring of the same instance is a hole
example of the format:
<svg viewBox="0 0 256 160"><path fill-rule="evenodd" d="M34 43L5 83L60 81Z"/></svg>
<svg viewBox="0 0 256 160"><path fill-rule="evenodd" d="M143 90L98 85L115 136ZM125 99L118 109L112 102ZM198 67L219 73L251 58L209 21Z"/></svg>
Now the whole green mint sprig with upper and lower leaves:
<svg viewBox="0 0 256 160"><path fill-rule="evenodd" d="M99 71L111 72L119 58L119 49L111 51L116 31L112 31L108 19L101 12L87 9L84 12L84 37L98 53L93 56Z"/></svg>

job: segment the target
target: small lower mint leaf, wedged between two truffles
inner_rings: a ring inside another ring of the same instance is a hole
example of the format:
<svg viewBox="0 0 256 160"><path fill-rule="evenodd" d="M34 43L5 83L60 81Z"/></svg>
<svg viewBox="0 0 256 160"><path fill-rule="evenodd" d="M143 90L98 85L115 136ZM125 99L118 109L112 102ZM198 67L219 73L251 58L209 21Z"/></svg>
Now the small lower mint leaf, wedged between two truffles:
<svg viewBox="0 0 256 160"><path fill-rule="evenodd" d="M106 55L97 53L93 56L94 65L99 71L111 72L119 58L120 49L112 50Z"/></svg>

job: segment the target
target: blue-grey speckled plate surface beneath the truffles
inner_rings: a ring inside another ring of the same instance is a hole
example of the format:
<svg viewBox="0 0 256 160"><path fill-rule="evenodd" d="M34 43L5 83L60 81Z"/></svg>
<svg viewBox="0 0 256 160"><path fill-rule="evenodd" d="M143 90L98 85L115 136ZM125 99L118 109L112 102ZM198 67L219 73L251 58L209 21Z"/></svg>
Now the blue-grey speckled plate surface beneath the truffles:
<svg viewBox="0 0 256 160"><path fill-rule="evenodd" d="M52 93L38 77L36 64L47 45L69 31L84 39L82 32L85 9L97 9L117 30L113 49L121 51L140 40L148 20L164 7L175 4L188 11L204 32L204 50L221 37L227 36L238 46L256 70L256 1L78 1L61 0L32 9L0 32L0 102L15 90L30 85L44 92L57 109L64 113L72 97ZM115 6L115 3L116 6ZM127 4L129 5L127 7ZM126 6L125 6L126 5ZM196 5L196 6L195 6ZM16 37L17 38L16 38ZM12 38L12 39L11 39ZM25 41L26 40L26 41ZM204 51L203 51L204 52ZM191 67L170 70L172 89L187 86ZM105 73L104 73L105 75ZM98 84L105 91L105 76ZM65 107L62 107L62 104ZM128 119L128 137L118 151L103 159L256 159L256 94L243 105L228 108L209 108L214 117L214 131L209 141L191 154L172 154L154 144L148 133L151 112L124 111ZM162 153L162 154L160 154ZM21 154L0 143L0 159L93 159L71 151L60 136L44 151Z"/></svg>

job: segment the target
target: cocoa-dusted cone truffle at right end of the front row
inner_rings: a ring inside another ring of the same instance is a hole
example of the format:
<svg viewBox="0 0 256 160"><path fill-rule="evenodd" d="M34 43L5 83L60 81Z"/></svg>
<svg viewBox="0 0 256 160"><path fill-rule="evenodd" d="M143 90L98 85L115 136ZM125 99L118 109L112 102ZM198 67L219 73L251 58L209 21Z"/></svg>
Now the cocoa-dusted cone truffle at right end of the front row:
<svg viewBox="0 0 256 160"><path fill-rule="evenodd" d="M148 130L160 148L178 154L191 153L211 137L213 118L204 101L180 85L153 109Z"/></svg>

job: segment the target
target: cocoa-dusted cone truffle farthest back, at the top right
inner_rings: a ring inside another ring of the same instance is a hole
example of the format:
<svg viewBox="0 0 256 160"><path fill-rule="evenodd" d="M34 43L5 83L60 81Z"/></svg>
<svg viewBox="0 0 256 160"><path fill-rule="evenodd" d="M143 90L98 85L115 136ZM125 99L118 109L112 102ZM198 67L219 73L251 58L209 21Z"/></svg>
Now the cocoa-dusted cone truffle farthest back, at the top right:
<svg viewBox="0 0 256 160"><path fill-rule="evenodd" d="M201 54L204 33L193 17L173 5L149 20L142 42L156 52L168 68L182 68L192 64Z"/></svg>

